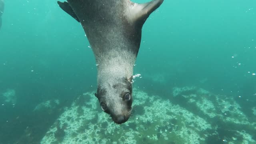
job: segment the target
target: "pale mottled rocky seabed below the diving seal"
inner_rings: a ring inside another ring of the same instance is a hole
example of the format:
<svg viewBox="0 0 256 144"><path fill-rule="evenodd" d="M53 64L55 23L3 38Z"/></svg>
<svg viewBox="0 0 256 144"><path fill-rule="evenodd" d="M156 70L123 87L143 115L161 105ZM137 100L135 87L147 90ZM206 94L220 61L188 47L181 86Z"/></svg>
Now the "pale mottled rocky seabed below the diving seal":
<svg viewBox="0 0 256 144"><path fill-rule="evenodd" d="M173 88L169 99L134 89L133 116L113 124L93 92L64 108L41 144L256 144L256 107L248 118L232 97L197 87ZM39 104L54 109L58 100Z"/></svg>

